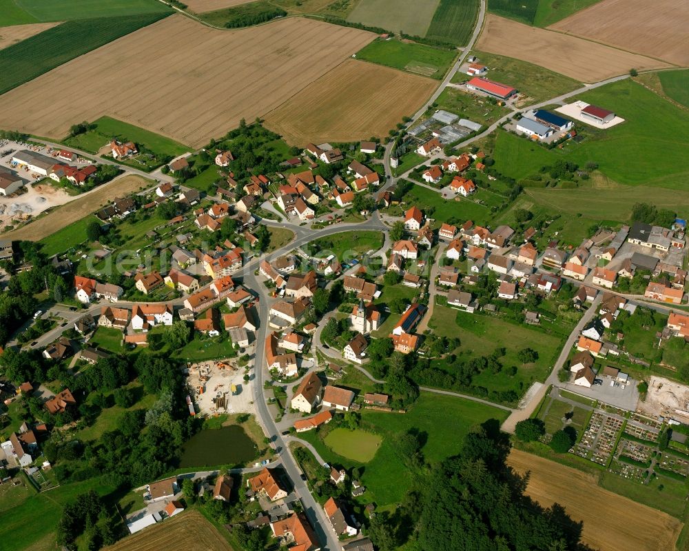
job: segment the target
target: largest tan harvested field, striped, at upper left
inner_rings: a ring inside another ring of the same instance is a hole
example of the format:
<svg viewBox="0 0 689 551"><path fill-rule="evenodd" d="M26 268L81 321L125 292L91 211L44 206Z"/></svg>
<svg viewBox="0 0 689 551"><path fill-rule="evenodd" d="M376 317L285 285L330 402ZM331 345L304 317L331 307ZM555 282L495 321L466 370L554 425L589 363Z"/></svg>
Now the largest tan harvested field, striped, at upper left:
<svg viewBox="0 0 689 551"><path fill-rule="evenodd" d="M109 115L200 147L284 103L375 36L300 18L216 30L174 15L3 94L0 128L62 138L76 122ZM88 86L75 74L88 75Z"/></svg>

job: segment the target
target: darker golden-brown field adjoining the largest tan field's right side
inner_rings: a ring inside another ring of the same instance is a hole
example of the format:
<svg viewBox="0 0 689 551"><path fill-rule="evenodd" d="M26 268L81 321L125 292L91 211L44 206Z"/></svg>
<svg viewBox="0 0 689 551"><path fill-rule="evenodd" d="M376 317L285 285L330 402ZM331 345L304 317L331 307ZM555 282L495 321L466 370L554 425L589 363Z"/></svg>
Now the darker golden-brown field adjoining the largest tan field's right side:
<svg viewBox="0 0 689 551"><path fill-rule="evenodd" d="M265 116L288 143L387 136L428 99L437 81L348 59Z"/></svg>

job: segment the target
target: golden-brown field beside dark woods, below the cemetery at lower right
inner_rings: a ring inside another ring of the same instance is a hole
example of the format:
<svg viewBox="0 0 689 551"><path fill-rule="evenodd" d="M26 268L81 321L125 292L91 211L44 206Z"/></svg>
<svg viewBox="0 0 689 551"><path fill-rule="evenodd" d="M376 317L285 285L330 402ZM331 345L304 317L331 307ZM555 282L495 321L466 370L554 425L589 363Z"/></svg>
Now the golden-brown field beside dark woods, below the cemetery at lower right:
<svg viewBox="0 0 689 551"><path fill-rule="evenodd" d="M526 493L544 507L557 502L584 522L582 540L599 551L675 549L681 523L669 514L599 488L594 477L559 463L512 450L508 465L531 472ZM653 492L655 490L648 490Z"/></svg>

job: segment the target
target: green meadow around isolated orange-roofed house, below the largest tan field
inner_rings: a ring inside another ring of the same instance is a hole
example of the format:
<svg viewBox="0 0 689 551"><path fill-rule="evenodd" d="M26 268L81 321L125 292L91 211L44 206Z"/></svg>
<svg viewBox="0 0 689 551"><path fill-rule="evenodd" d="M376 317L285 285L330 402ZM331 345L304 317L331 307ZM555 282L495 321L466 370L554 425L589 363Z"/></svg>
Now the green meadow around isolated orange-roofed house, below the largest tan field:
<svg viewBox="0 0 689 551"><path fill-rule="evenodd" d="M173 139L111 117L101 117L93 124L95 126L93 130L65 139L65 145L97 153L114 138L119 141L133 141L137 146L143 146L160 157L177 157L191 150Z"/></svg>

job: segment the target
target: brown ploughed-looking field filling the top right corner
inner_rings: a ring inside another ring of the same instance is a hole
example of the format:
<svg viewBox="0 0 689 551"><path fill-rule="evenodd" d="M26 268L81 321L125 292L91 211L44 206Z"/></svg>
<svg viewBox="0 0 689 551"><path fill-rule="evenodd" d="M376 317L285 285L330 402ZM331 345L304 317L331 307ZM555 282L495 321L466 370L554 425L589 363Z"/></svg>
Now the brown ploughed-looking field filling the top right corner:
<svg viewBox="0 0 689 551"><path fill-rule="evenodd" d="M549 29L689 66L689 2L603 0Z"/></svg>

